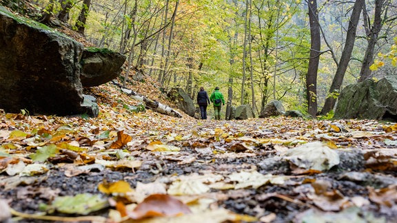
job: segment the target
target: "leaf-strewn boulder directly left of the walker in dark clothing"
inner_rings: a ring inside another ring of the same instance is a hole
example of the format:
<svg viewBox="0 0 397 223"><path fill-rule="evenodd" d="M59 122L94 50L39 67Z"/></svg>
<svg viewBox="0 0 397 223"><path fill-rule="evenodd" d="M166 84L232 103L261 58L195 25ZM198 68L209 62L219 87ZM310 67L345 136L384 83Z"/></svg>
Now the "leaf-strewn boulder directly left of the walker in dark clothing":
<svg viewBox="0 0 397 223"><path fill-rule="evenodd" d="M194 108L193 100L181 87L172 87L167 93L167 97L174 101L176 106L187 115L194 117L196 109Z"/></svg>

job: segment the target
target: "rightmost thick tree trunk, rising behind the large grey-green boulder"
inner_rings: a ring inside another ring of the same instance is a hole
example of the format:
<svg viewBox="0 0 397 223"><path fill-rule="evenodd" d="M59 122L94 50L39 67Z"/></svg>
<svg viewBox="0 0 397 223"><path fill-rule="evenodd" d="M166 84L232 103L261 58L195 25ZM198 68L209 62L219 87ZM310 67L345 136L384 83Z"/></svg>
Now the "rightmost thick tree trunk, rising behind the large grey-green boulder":
<svg viewBox="0 0 397 223"><path fill-rule="evenodd" d="M369 70L369 66L371 65L371 63L374 62L375 45L378 41L380 29L382 29L383 25L382 19L380 18L380 16L382 15L383 2L384 0L375 1L374 24L372 25L372 28L369 31L369 35L367 36L368 46L367 50L365 50L365 56L363 59L363 65L361 66L360 78L358 78L358 82L365 81L365 79L371 76L371 70Z"/></svg>

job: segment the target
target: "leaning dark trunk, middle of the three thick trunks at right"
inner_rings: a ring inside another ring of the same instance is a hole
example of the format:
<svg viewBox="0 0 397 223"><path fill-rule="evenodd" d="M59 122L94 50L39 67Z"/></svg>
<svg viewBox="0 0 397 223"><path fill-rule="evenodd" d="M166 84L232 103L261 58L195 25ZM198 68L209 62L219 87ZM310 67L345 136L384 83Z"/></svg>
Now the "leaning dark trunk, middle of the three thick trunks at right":
<svg viewBox="0 0 397 223"><path fill-rule="evenodd" d="M334 79L332 80L332 85L329 88L329 95L325 99L325 104L321 110L321 114L325 115L332 109L334 109L336 98L338 97L340 86L343 83L343 78L345 77L345 72L347 70L347 65L350 61L350 56L352 56L352 50L354 47L354 41L356 41L356 30L357 23L360 19L361 10L363 9L363 4L365 0L356 0L353 7L353 12L349 21L349 28L346 35L345 47L343 47L342 56L340 56L339 65L336 68L336 73Z"/></svg>

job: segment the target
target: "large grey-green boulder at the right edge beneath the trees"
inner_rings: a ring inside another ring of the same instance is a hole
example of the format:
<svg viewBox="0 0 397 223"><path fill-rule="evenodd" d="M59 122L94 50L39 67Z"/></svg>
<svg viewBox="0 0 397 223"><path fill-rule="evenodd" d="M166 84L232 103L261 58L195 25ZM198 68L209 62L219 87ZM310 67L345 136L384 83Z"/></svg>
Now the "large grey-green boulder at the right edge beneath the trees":
<svg viewBox="0 0 397 223"><path fill-rule="evenodd" d="M397 76L348 85L340 92L334 118L397 120Z"/></svg>

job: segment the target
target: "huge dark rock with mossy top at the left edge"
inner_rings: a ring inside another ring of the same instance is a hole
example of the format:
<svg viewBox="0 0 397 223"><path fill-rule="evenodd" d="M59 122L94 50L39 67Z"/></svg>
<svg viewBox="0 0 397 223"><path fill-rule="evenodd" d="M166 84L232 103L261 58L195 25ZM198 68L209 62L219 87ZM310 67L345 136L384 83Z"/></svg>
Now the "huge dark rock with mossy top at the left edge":
<svg viewBox="0 0 397 223"><path fill-rule="evenodd" d="M6 112L97 114L83 107L83 45L0 6L0 107Z"/></svg>

